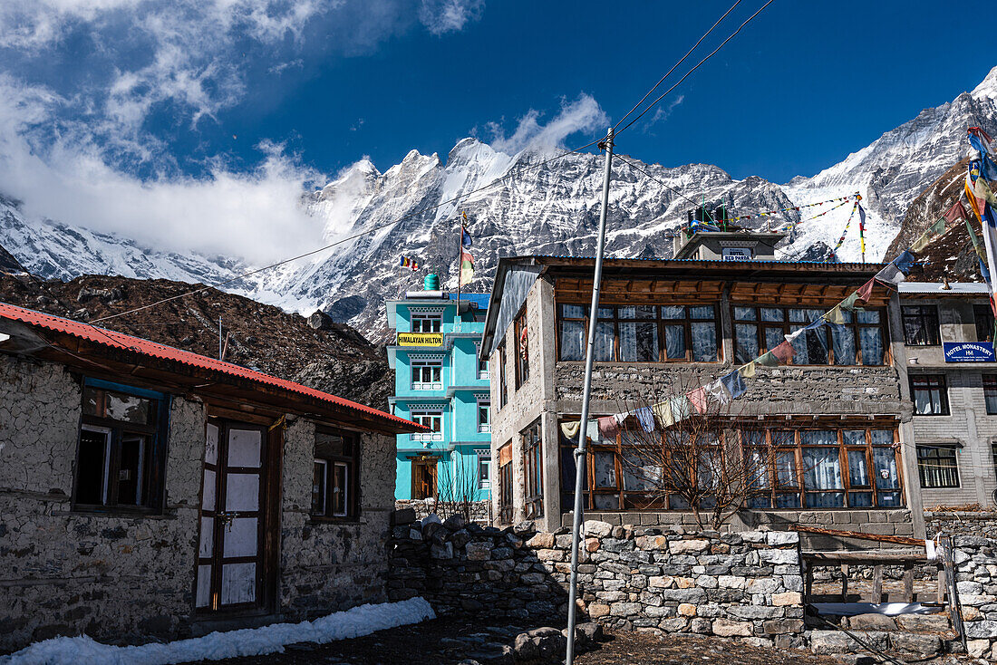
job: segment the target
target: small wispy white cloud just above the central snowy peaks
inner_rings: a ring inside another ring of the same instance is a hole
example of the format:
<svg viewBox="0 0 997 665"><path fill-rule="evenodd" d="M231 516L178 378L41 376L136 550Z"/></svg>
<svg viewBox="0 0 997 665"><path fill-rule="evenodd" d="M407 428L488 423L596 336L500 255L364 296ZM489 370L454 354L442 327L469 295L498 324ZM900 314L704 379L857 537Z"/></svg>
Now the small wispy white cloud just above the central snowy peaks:
<svg viewBox="0 0 997 665"><path fill-rule="evenodd" d="M540 112L530 109L519 119L512 136L505 137L497 123L489 123L486 132L493 136L491 146L506 155L525 149L544 150L562 146L568 136L581 132L601 133L609 120L590 95L579 95L573 102L561 100L561 108L546 125L540 124Z"/></svg>

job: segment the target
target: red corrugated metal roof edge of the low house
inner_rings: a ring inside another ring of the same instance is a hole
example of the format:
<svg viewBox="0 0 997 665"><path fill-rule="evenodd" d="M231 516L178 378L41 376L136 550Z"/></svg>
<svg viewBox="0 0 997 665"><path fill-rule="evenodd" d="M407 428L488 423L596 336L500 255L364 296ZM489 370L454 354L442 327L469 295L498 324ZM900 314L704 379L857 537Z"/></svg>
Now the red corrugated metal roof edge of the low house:
<svg viewBox="0 0 997 665"><path fill-rule="evenodd" d="M46 330L53 330L55 332L73 335L74 337L79 337L102 346L132 351L144 356L161 358L163 360L188 365L190 367L197 367L203 370L210 370L212 372L220 372L222 374L228 374L230 376L246 379L255 383L281 388L292 393L305 395L307 397L335 404L340 407L355 409L391 423L412 426L417 430L422 429L421 426L416 425L411 421L407 421L404 418L392 416L391 414L387 414L383 411L379 411L362 404L357 404L356 402L351 402L350 400L345 400L341 397L336 397L335 395L323 393L320 390L308 388L307 386L302 386L301 384L294 383L293 381L278 379L277 377L272 377L269 374L263 374L262 372L256 372L255 370L251 370L246 367L240 367L239 365L233 365L232 363L222 362L220 360L215 360L214 358L208 358L207 356L200 356L196 353L190 353L189 351L174 349L171 346L166 346L166 344L158 344L157 342L151 342L150 340L143 339L141 337L133 337L132 335L126 335L114 330L98 328L87 323L81 323L80 321L72 321L70 319L52 316L51 314L44 314L31 309L24 309L23 307L15 307L14 305L8 305L3 302L0 302L0 317L10 319L11 321L26 323L31 326L38 326L40 328L45 328Z"/></svg>

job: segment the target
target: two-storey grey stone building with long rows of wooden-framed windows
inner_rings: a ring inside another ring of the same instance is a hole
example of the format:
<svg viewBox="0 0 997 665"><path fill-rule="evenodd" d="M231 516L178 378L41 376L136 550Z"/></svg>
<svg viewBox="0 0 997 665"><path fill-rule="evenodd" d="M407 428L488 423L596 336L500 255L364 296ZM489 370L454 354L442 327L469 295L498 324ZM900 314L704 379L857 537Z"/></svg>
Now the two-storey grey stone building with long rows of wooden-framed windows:
<svg viewBox="0 0 997 665"><path fill-rule="evenodd" d="M592 258L555 256L499 262L482 352L493 368L493 500L504 523L528 518L545 530L570 523L573 444L560 426L577 422L581 410L593 264ZM880 267L606 260L591 417L632 411L669 390L729 373L815 320ZM890 306L896 300L877 284L865 310L848 314L840 330L825 327L798 338L792 364L758 368L732 410L748 419L740 437L760 438L780 455L765 493L733 517L731 528L809 522L923 533L911 482L911 408L893 366L903 353L899 308ZM632 472L632 428L609 439L589 428L586 518L690 523L688 506L677 497L647 499Z"/></svg>

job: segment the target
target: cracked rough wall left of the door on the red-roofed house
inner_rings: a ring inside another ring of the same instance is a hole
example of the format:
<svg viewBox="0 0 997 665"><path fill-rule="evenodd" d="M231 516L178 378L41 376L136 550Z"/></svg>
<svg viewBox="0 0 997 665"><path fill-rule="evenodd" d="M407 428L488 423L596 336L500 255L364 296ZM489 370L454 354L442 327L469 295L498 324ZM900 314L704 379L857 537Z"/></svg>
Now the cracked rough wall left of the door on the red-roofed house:
<svg viewBox="0 0 997 665"><path fill-rule="evenodd" d="M153 516L71 510L80 412L80 384L63 366L0 356L0 652L189 626L203 406L172 401L166 503Z"/></svg>

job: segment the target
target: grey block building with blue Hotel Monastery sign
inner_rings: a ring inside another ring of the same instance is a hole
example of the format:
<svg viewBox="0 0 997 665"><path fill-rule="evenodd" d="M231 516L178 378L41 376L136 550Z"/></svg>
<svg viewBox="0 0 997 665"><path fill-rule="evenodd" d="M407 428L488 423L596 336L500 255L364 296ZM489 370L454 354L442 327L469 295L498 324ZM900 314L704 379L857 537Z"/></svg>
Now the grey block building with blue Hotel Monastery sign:
<svg viewBox="0 0 997 665"><path fill-rule="evenodd" d="M926 508L997 500L997 358L986 284L900 284L900 388Z"/></svg>

